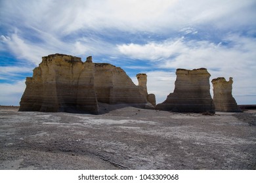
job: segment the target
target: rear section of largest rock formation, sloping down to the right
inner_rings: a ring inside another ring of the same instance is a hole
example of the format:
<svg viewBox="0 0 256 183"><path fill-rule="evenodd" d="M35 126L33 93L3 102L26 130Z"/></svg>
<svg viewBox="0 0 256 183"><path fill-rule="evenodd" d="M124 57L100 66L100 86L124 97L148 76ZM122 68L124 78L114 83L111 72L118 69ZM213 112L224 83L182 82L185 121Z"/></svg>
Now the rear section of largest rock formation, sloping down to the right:
<svg viewBox="0 0 256 183"><path fill-rule="evenodd" d="M144 108L146 97L127 76L125 71L109 63L95 63L95 90L98 102L128 103Z"/></svg>

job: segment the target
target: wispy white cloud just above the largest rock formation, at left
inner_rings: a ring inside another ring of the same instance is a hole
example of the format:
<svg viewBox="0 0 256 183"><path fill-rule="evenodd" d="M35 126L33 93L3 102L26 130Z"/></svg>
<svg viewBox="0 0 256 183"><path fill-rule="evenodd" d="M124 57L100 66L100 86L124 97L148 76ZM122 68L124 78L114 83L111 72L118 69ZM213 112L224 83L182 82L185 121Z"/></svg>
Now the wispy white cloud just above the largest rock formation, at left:
<svg viewBox="0 0 256 183"><path fill-rule="evenodd" d="M26 60L34 66L41 62L43 56L49 54L71 54L74 56L97 56L117 54L117 50L110 42L102 41L94 37L78 37L74 41L61 41L56 39L53 35L39 32L41 42L32 42L20 37L16 33L11 35L11 39L5 42L5 45L18 59Z"/></svg>

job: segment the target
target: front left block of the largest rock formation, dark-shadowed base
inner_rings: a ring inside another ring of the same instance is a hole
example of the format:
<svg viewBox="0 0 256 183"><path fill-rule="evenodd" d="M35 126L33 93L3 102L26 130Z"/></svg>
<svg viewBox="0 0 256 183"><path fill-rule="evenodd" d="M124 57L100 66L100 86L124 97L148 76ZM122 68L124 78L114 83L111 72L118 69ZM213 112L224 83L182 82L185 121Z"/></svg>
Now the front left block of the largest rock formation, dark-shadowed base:
<svg viewBox="0 0 256 183"><path fill-rule="evenodd" d="M98 114L94 86L95 64L54 54L43 57L26 90L19 111L82 112Z"/></svg>

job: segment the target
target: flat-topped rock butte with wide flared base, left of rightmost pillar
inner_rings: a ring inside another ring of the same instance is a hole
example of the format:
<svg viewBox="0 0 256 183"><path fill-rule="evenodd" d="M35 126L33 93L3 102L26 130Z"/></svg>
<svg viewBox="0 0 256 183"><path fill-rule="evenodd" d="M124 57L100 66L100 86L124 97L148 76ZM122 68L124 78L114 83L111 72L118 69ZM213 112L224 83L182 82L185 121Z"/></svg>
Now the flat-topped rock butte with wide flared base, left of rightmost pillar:
<svg viewBox="0 0 256 183"><path fill-rule="evenodd" d="M167 99L156 105L159 110L173 112L215 112L211 99L207 69L177 69L175 90Z"/></svg>

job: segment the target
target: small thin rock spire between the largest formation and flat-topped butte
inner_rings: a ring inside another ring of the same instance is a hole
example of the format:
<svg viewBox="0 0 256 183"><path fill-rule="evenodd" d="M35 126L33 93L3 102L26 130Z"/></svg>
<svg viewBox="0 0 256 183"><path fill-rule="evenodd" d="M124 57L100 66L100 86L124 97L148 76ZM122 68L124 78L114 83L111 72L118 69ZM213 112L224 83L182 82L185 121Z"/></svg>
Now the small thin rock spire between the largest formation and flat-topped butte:
<svg viewBox="0 0 256 183"><path fill-rule="evenodd" d="M148 89L146 87L147 75L144 73L139 73L136 75L139 82L140 93L144 95L149 103L154 107L156 106L156 96L153 93L148 94Z"/></svg>

